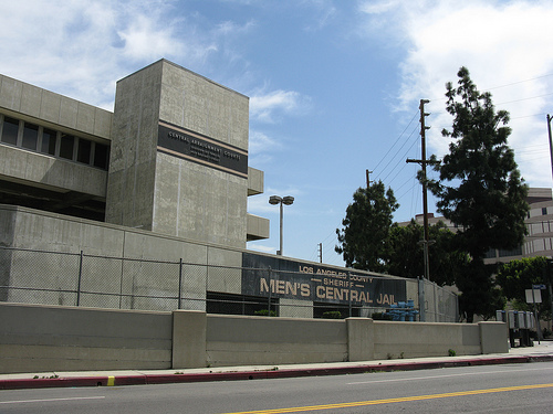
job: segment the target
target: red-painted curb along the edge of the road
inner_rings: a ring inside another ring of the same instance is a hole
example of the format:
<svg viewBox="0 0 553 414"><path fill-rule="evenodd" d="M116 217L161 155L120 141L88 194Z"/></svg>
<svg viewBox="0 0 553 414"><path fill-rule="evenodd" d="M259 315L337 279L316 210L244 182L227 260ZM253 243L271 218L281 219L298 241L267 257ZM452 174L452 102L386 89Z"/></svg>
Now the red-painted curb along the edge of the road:
<svg viewBox="0 0 553 414"><path fill-rule="evenodd" d="M174 384L191 382L216 381L247 381L268 380L282 378L323 376L359 374L367 372L414 371L455 367L495 365L508 363L551 362L551 355L523 355L498 357L489 359L471 359L459 361L432 362L380 362L356 367L312 368L299 370L267 370L242 372L208 372L195 374L142 374L142 375L107 375L107 376L75 376L75 378L43 378L43 379L9 379L0 380L0 390L45 389L45 388L73 388L73 386L119 386L119 385L148 385Z"/></svg>

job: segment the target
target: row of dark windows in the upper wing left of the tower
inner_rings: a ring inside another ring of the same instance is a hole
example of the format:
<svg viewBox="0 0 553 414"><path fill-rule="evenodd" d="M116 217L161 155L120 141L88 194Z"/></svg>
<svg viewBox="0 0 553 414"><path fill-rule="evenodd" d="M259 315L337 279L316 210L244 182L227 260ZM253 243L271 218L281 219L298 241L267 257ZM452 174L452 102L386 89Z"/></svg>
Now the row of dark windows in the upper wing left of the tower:
<svg viewBox="0 0 553 414"><path fill-rule="evenodd" d="M107 170L109 146L0 114L0 141Z"/></svg>

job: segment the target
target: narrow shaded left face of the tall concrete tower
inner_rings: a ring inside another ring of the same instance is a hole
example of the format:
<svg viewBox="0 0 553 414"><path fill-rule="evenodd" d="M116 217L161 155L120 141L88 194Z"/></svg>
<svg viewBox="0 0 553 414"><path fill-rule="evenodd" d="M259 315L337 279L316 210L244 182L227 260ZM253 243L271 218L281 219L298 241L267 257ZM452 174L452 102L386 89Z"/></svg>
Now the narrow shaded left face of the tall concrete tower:
<svg viewBox="0 0 553 414"><path fill-rule="evenodd" d="M106 222L153 230L161 65L117 82Z"/></svg>

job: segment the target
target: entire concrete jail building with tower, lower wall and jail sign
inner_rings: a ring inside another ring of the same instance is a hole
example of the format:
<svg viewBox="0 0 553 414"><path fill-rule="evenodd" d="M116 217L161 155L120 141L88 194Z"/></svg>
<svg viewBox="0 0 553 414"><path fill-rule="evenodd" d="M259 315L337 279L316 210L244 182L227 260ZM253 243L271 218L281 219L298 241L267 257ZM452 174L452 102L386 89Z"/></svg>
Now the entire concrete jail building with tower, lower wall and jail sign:
<svg viewBox="0 0 553 414"><path fill-rule="evenodd" d="M248 134L247 96L166 60L118 81L113 113L0 75L0 301L312 318L417 300L416 280L247 251L269 237ZM436 309L457 320L456 298Z"/></svg>

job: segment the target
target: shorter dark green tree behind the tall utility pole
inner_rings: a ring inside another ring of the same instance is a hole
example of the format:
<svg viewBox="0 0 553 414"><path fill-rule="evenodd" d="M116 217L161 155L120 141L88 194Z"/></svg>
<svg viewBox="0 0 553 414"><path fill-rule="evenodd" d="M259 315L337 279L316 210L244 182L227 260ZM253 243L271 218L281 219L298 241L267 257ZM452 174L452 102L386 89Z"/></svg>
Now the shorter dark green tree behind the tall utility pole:
<svg viewBox="0 0 553 414"><path fill-rule="evenodd" d="M444 286L453 285L468 262L466 252L458 251L455 233L444 222L428 227L430 280ZM425 274L422 245L424 227L414 220L399 226L394 223L387 243L387 270L392 275L416 278Z"/></svg>

